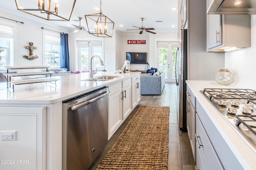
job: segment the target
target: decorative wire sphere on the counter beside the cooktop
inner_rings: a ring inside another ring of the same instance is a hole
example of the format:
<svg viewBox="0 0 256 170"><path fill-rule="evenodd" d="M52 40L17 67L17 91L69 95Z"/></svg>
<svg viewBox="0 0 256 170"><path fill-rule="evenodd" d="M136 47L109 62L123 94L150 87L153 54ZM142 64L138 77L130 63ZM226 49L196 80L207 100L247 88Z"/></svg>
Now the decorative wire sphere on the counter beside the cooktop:
<svg viewBox="0 0 256 170"><path fill-rule="evenodd" d="M214 74L214 79L218 84L228 85L234 82L234 74L227 69L220 69Z"/></svg>

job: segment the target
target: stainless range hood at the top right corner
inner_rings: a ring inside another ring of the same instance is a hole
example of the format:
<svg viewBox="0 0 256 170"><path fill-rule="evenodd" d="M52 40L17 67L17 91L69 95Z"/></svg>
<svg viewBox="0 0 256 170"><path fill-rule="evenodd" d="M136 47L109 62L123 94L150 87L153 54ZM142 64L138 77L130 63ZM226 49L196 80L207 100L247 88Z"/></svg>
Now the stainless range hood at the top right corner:
<svg viewBox="0 0 256 170"><path fill-rule="evenodd" d="M212 0L207 14L256 14L256 0Z"/></svg>

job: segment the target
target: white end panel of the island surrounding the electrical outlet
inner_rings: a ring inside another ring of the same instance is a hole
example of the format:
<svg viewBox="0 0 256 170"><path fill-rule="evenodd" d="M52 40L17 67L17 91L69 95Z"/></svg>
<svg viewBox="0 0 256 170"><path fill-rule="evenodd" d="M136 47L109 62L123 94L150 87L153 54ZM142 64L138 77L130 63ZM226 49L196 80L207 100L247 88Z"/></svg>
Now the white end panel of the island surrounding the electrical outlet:
<svg viewBox="0 0 256 170"><path fill-rule="evenodd" d="M0 164L0 169L45 170L45 107L1 106L0 131L16 131L16 140L0 140L1 160L8 161Z"/></svg>

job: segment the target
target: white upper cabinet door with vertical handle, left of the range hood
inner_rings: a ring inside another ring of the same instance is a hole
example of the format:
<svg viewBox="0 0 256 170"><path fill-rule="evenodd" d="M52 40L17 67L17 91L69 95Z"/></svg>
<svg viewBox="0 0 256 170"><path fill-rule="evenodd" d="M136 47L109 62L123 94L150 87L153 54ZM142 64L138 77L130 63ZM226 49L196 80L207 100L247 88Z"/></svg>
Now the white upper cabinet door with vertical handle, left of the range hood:
<svg viewBox="0 0 256 170"><path fill-rule="evenodd" d="M207 15L207 49L222 45L222 15Z"/></svg>

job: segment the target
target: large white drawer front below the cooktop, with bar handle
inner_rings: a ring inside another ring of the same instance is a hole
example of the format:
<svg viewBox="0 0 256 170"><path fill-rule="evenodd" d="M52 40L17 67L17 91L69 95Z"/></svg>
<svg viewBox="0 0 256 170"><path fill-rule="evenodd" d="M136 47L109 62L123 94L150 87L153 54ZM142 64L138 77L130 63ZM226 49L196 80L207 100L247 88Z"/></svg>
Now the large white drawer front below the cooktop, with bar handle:
<svg viewBox="0 0 256 170"><path fill-rule="evenodd" d="M199 146L200 145L200 146ZM222 165L216 155L204 127L196 114L196 147L200 152L206 170L222 170ZM200 147L200 148L199 148Z"/></svg>

